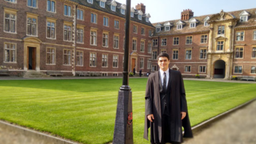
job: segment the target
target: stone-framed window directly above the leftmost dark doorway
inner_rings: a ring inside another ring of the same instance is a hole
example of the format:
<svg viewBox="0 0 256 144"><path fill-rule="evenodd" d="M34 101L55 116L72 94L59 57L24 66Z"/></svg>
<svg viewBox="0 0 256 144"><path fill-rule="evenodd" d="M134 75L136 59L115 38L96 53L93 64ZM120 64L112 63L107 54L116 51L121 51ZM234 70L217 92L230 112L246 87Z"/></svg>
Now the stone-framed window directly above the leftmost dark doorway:
<svg viewBox="0 0 256 144"><path fill-rule="evenodd" d="M37 17L32 16L32 15L28 15L28 23L27 23L27 35L33 35L36 36L37 35Z"/></svg>

